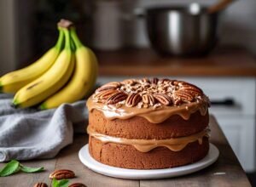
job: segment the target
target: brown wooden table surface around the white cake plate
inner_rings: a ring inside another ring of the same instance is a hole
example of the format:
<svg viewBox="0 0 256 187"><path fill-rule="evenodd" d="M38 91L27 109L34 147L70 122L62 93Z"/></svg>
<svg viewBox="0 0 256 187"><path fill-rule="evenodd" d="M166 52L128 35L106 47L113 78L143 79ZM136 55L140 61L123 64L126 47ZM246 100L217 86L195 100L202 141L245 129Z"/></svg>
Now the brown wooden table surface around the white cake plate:
<svg viewBox="0 0 256 187"><path fill-rule="evenodd" d="M0 178L1 187L29 187L37 182L49 184L49 173L55 169L71 169L77 178L71 179L71 182L82 182L87 186L131 186L131 187L150 187L150 186L250 186L246 174L241 168L230 144L224 137L224 133L218 126L214 117L211 116L210 127L212 129L211 142L218 147L220 156L212 166L199 172L192 173L177 178L166 178L157 180L127 180L119 178L110 178L90 171L80 161L79 149L87 143L88 137L85 134L75 134L73 144L67 146L54 159L21 161L27 166L44 166L46 171L43 173L16 173L13 176ZM3 163L0 167L3 167Z"/></svg>

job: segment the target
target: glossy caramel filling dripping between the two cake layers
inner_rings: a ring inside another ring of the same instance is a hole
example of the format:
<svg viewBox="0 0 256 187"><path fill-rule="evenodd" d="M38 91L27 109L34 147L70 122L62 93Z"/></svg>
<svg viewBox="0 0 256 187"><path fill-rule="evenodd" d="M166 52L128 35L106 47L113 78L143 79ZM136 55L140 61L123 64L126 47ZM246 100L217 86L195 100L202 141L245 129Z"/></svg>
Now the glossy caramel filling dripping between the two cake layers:
<svg viewBox="0 0 256 187"><path fill-rule="evenodd" d="M203 137L209 137L209 128L204 129L200 133L195 133L186 137L172 138L172 139L125 139L113 136L108 136L102 133L96 133L90 125L87 127L87 133L91 137L99 139L103 143L116 143L116 144L130 144L141 152L148 152L156 147L166 147L172 151L183 150L187 144L198 141L202 144Z"/></svg>

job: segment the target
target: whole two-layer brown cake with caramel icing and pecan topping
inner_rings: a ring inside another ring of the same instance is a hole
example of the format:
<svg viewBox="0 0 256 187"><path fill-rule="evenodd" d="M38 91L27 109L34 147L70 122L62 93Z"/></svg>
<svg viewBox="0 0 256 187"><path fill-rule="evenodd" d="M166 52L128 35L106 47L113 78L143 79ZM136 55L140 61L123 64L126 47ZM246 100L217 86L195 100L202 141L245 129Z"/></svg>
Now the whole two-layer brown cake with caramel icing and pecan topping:
<svg viewBox="0 0 256 187"><path fill-rule="evenodd" d="M109 82L87 106L90 156L109 166L178 167L201 160L209 150L209 99L188 82Z"/></svg>

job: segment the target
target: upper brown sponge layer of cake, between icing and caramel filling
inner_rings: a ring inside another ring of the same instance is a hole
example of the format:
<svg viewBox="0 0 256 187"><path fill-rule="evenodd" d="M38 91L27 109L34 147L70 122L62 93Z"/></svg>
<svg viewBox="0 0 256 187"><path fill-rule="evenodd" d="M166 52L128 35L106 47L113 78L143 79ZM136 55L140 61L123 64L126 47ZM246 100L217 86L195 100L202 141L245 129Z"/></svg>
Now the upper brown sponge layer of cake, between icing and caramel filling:
<svg viewBox="0 0 256 187"><path fill-rule="evenodd" d="M208 126L209 115L201 116L197 111L189 120L181 116L169 117L160 123L148 122L141 116L127 120L109 120L102 111L93 110L89 113L89 124L97 133L125 139L170 139L198 133Z"/></svg>

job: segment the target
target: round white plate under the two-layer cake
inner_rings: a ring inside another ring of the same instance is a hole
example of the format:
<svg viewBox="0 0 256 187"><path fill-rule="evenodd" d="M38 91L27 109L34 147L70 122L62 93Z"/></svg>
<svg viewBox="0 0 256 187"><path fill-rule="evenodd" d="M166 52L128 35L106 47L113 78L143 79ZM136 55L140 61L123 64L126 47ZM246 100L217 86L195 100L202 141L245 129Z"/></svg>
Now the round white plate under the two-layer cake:
<svg viewBox="0 0 256 187"><path fill-rule="evenodd" d="M85 144L84 147L79 150L79 159L82 163L89 167L96 173L101 173L114 178L129 178L129 179L153 179L153 178L172 178L189 173L195 173L205 167L210 166L214 161L218 159L218 148L214 144L210 144L210 149L201 161L182 166L166 169L125 169L120 167L110 167L96 161L90 156L89 146Z"/></svg>

